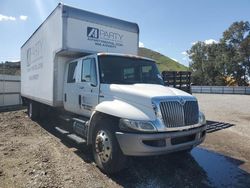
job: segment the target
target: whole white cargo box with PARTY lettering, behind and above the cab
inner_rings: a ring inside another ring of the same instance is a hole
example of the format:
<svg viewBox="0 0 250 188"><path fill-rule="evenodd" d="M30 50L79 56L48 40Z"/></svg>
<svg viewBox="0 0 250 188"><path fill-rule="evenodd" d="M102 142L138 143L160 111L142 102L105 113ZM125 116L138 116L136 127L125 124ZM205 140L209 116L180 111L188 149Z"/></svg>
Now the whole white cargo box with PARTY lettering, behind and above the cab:
<svg viewBox="0 0 250 188"><path fill-rule="evenodd" d="M98 52L137 55L138 43L135 23L59 4L21 47L21 95L62 106L66 62Z"/></svg>

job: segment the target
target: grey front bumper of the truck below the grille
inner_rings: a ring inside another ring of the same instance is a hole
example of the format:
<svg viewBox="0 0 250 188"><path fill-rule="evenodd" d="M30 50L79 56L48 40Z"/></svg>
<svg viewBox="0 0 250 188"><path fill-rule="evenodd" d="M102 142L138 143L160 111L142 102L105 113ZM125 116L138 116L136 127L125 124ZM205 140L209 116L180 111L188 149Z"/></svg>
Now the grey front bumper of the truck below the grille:
<svg viewBox="0 0 250 188"><path fill-rule="evenodd" d="M116 138L124 155L149 156L181 151L199 145L205 139L206 125L167 133L123 133Z"/></svg>

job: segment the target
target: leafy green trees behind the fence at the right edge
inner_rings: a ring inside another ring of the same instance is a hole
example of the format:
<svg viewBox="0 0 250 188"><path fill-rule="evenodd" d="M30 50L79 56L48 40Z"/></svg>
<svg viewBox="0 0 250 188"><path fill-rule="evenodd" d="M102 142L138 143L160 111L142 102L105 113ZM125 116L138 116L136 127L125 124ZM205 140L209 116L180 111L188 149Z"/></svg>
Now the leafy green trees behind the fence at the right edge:
<svg viewBox="0 0 250 188"><path fill-rule="evenodd" d="M250 24L234 22L219 43L197 42L188 50L192 82L199 85L248 85L250 78ZM228 79L230 78L230 79ZM232 83L230 81L230 83Z"/></svg>

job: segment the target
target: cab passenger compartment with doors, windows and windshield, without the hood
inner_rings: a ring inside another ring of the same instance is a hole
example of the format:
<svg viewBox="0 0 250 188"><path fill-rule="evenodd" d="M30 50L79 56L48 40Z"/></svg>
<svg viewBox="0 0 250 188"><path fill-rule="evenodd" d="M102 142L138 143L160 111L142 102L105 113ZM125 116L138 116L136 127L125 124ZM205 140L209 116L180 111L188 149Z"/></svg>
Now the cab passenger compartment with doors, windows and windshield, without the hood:
<svg viewBox="0 0 250 188"><path fill-rule="evenodd" d="M64 108L90 117L100 102L116 97L107 93L111 85L133 84L164 84L153 60L98 53L70 61L65 73Z"/></svg>

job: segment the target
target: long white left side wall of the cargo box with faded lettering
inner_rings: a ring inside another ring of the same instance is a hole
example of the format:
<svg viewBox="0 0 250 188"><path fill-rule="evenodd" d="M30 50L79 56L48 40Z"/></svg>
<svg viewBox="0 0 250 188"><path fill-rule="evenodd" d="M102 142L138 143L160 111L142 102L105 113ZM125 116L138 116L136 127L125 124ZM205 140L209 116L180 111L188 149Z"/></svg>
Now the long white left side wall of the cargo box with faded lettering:
<svg viewBox="0 0 250 188"><path fill-rule="evenodd" d="M62 33L62 16L57 7L21 47L22 97L55 105L55 54L63 46Z"/></svg>

